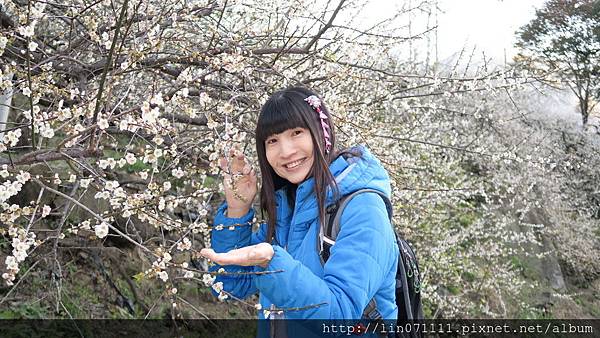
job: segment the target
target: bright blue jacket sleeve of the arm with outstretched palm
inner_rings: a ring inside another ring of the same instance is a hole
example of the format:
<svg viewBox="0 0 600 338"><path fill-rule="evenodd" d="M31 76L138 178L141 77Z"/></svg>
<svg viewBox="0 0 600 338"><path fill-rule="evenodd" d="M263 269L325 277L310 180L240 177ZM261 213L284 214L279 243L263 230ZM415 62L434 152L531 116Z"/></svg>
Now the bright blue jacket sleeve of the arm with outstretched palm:
<svg viewBox="0 0 600 338"><path fill-rule="evenodd" d="M274 246L274 251L267 269L283 272L256 276L256 286L280 308L305 308L288 311L291 319L361 318L398 259L385 204L374 193L357 195L347 204L322 278L283 248ZM307 308L320 303L326 304Z"/></svg>

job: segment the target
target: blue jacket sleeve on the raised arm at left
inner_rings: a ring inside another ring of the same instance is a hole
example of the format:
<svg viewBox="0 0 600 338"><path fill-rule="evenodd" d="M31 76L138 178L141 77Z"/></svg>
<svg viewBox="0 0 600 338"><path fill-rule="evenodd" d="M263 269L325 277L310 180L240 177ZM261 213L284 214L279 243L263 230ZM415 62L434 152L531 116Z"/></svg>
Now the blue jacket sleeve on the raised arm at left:
<svg viewBox="0 0 600 338"><path fill-rule="evenodd" d="M223 203L217 210L214 219L211 247L215 252L227 252L229 250L242 248L249 245L264 242L266 226L261 224L256 232L252 232L252 223L254 219L254 210L250 209L248 213L240 218L230 218L226 216L227 203ZM223 268L226 272L251 272L253 267L240 265L221 266L214 264L209 271L214 272ZM255 294L258 290L253 283L251 274L232 274L217 275L215 283L222 282L223 290L239 299L247 298ZM218 295L215 290L212 290Z"/></svg>

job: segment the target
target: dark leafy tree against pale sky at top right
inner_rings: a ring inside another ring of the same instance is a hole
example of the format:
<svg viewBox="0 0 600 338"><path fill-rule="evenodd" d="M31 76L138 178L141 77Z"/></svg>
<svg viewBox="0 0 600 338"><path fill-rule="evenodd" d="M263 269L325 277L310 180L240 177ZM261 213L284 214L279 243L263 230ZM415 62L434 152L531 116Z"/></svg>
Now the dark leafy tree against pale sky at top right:
<svg viewBox="0 0 600 338"><path fill-rule="evenodd" d="M600 99L600 2L550 0L517 38L523 52L517 60L559 75L579 99L585 125Z"/></svg>

